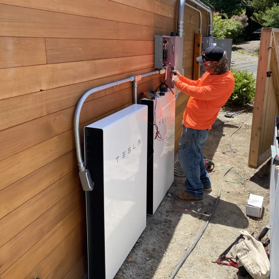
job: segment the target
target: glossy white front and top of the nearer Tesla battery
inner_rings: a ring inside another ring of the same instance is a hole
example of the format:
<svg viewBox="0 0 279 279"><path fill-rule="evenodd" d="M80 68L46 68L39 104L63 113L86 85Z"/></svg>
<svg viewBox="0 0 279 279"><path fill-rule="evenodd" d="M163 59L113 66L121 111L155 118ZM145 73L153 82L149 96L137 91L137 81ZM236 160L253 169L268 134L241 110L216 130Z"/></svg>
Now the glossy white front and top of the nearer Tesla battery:
<svg viewBox="0 0 279 279"><path fill-rule="evenodd" d="M88 127L103 130L104 246L112 279L146 227L147 106L132 105Z"/></svg>

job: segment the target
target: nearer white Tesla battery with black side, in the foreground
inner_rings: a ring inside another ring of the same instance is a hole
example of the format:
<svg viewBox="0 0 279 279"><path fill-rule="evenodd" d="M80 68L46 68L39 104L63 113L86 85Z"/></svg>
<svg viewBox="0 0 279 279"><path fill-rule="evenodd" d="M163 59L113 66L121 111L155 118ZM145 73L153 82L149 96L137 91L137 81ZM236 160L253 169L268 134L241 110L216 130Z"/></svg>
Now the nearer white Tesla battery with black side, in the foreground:
<svg viewBox="0 0 279 279"><path fill-rule="evenodd" d="M89 278L113 279L146 226L147 114L134 104L84 128Z"/></svg>

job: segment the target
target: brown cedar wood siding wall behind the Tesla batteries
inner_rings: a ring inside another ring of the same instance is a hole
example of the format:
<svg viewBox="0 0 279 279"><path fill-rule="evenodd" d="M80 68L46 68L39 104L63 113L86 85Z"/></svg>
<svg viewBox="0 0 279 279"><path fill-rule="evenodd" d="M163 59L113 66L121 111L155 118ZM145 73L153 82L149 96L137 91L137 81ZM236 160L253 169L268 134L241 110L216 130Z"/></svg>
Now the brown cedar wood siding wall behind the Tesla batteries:
<svg viewBox="0 0 279 279"><path fill-rule="evenodd" d="M0 0L1 279L84 274L75 106L88 89L152 71L154 35L176 30L177 6L177 0ZM185 11L183 65L192 78L199 15ZM139 94L159 80L141 80ZM81 129L132 101L131 83L95 93L82 108ZM180 93L176 149L186 103Z"/></svg>

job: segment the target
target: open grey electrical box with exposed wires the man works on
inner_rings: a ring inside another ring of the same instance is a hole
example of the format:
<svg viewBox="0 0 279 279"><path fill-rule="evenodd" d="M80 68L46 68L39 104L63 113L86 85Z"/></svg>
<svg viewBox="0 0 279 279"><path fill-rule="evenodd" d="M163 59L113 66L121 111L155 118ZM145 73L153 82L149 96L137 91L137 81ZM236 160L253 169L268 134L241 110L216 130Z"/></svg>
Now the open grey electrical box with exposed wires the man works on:
<svg viewBox="0 0 279 279"><path fill-rule="evenodd" d="M154 67L156 69L167 68L166 84L171 87L169 75L171 68L183 73L183 37L164 35L154 37Z"/></svg>

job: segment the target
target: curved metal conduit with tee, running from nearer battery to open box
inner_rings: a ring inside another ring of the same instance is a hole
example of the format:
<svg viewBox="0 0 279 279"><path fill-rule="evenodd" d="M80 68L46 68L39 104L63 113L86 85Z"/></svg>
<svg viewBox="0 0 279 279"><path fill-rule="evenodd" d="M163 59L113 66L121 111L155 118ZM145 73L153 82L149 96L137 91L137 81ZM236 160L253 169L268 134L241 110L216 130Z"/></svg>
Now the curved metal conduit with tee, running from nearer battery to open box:
<svg viewBox="0 0 279 279"><path fill-rule="evenodd" d="M108 83L106 85L102 85L102 86L98 86L98 87L95 87L93 89L90 89L90 90L86 91L82 95L80 100L78 101L78 105L77 105L76 112L75 112L75 117L74 117L74 132L75 132L76 152L77 152L77 158L78 158L79 177L80 177L80 180L81 180L81 183L82 183L82 188L83 188L84 191L93 190L94 182L91 179L91 175L90 175L89 170L87 170L85 168L85 164L82 160L82 151L81 151L80 135L79 135L79 117L80 117L80 112L81 112L83 103L85 102L87 97L89 97L90 95L92 95L95 92L98 92L98 91L101 91L101 90L104 90L104 89L108 89L108 88L111 88L111 87L115 87L115 86L118 86L118 85L126 83L126 82L133 82L134 104L136 104L137 103L137 83L138 83L138 81L140 81L142 78L146 78L148 76L159 74L159 73L160 74L165 73L165 77L166 77L166 73L167 73L166 69L156 70L156 71L153 71L153 72L144 73L142 75L132 76L130 78L125 78L125 79L122 79L120 81Z"/></svg>

